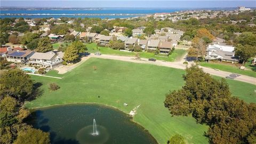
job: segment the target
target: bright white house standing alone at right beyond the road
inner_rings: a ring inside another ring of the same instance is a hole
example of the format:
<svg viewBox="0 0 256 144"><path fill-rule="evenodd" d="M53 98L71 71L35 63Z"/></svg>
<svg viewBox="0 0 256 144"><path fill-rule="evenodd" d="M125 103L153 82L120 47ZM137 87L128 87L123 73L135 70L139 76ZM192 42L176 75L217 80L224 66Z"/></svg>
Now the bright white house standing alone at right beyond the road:
<svg viewBox="0 0 256 144"><path fill-rule="evenodd" d="M235 47L226 44L213 44L207 47L206 60L220 60L238 62L238 58L235 57Z"/></svg>

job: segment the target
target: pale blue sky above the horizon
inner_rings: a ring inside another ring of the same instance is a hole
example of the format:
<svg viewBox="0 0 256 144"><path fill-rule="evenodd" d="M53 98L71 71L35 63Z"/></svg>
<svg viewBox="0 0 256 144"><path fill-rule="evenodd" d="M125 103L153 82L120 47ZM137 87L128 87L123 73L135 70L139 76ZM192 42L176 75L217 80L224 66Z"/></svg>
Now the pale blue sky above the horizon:
<svg viewBox="0 0 256 144"><path fill-rule="evenodd" d="M251 1L2 1L1 6L18 7L177 7L177 8L207 8L207 7L237 7L247 6L256 7L256 0Z"/></svg>

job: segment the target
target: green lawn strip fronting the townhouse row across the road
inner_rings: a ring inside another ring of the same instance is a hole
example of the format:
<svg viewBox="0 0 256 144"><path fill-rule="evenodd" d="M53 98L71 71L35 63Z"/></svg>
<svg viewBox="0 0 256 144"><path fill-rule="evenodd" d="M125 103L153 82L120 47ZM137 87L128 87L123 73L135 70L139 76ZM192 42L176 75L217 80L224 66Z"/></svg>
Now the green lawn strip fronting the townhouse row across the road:
<svg viewBox="0 0 256 144"><path fill-rule="evenodd" d="M118 50L113 50L110 47L98 47L95 43L91 44L86 44L88 48L88 52L90 53L95 53L95 52L101 52L102 54L111 54L111 55L123 55L123 56L135 56L135 52L123 52L123 51L118 51ZM164 57L157 57L155 56L155 53L150 53L150 52L138 52L141 58L154 58L157 60L165 60L165 61L175 61L176 59L180 59L185 53L186 50L181 50L181 49L175 49L174 52L169 55L168 58Z"/></svg>

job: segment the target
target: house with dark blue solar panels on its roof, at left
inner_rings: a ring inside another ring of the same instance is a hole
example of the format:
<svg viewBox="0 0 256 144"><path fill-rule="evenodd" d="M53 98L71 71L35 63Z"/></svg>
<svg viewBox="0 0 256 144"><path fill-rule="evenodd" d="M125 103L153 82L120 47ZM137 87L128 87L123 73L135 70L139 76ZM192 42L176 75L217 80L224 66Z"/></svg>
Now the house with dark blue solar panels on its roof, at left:
<svg viewBox="0 0 256 144"><path fill-rule="evenodd" d="M10 51L6 54L6 60L12 62L27 62L27 60L33 55L34 52L30 50L26 51Z"/></svg>

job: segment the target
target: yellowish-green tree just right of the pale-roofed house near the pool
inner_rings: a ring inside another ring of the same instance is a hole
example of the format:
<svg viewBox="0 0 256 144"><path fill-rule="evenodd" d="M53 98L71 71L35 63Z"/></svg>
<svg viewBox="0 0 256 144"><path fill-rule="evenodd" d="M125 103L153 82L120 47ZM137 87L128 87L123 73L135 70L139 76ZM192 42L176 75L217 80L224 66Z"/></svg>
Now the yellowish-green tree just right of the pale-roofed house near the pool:
<svg viewBox="0 0 256 144"><path fill-rule="evenodd" d="M75 62L78 58L78 50L74 45L70 45L64 53L63 60L66 62Z"/></svg>

